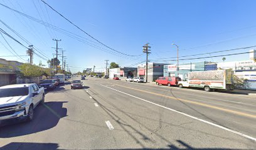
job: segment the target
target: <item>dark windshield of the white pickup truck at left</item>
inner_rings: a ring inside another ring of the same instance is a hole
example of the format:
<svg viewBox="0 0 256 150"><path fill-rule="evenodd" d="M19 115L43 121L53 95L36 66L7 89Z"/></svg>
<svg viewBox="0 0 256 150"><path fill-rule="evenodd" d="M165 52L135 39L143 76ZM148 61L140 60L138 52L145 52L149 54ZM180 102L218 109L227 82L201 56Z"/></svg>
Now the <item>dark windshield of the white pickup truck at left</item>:
<svg viewBox="0 0 256 150"><path fill-rule="evenodd" d="M28 95L28 87L0 89L0 98Z"/></svg>

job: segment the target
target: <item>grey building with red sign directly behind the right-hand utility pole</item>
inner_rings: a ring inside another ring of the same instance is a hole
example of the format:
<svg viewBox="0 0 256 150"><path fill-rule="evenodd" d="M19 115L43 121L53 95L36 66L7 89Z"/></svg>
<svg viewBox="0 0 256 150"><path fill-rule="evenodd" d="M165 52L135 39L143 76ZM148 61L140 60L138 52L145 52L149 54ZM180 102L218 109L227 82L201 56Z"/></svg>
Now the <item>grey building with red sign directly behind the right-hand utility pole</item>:
<svg viewBox="0 0 256 150"><path fill-rule="evenodd" d="M164 76L163 69L164 63L148 63L147 64L147 81L156 81L161 76ZM143 77L146 80L146 64L140 64L137 66L137 76Z"/></svg>

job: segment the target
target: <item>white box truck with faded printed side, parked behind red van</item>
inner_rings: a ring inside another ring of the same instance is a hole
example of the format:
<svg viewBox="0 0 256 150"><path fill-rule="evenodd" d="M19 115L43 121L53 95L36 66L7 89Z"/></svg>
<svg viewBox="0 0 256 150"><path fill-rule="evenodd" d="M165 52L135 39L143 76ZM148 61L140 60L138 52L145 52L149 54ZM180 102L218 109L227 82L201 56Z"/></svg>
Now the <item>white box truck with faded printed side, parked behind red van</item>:
<svg viewBox="0 0 256 150"><path fill-rule="evenodd" d="M179 81L179 88L195 87L205 91L212 89L233 90L233 71L230 69L216 71L196 71L188 73L188 81Z"/></svg>

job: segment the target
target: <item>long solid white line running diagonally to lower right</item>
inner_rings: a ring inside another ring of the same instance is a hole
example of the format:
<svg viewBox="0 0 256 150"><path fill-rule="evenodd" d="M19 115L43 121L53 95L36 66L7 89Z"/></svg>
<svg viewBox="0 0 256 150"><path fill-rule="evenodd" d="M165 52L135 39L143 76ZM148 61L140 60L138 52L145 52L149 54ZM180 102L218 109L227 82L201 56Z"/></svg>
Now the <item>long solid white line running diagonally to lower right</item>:
<svg viewBox="0 0 256 150"><path fill-rule="evenodd" d="M101 85L101 86L104 86L104 85L102 85L102 84L100 84L100 85ZM176 112L176 113L183 114L184 116L187 116L187 117L192 118L192 119L196 119L196 120L201 121L201 122L206 123L206 124L210 124L210 125L215 126L215 127L217 127L217 128L224 129L224 130L226 130L226 131L230 131L231 133L237 134L237 135L239 135L239 136L243 136L244 138L247 138L247 139L251 139L251 140L253 140L253 141L256 141L256 138L253 138L252 136L248 136L248 135L246 135L246 134L239 133L238 131L225 128L224 126L220 126L220 125L215 124L215 123L211 123L210 121L205 121L205 120L203 120L203 119L196 118L196 117L191 116L191 115L189 115L189 114L182 113L181 111L176 111L175 109L171 109L171 108L168 108L168 107L166 107L166 106L162 106L162 105L160 105L160 104L156 104L156 103L153 103L153 102L151 102L151 101L147 101L146 99L142 99L142 98L139 98L139 97L137 97L137 96L133 96L133 95L128 94L128 93L124 93L124 92L122 92L122 91L119 91L119 90L117 90L117 89L110 88L110 87L108 87L108 86L104 86L104 87L109 88L109 89L112 89L112 90L114 90L114 91L117 91L117 92L119 92L119 93L122 93L122 94L125 94L125 95L128 95L128 96L131 96L131 97L133 97L133 98L140 99L141 101L145 101L145 102L147 102L147 103L154 104L154 105L159 106L159 107L161 107L161 108L165 108L165 109L168 109L168 110L170 110L170 111L174 111L174 112Z"/></svg>

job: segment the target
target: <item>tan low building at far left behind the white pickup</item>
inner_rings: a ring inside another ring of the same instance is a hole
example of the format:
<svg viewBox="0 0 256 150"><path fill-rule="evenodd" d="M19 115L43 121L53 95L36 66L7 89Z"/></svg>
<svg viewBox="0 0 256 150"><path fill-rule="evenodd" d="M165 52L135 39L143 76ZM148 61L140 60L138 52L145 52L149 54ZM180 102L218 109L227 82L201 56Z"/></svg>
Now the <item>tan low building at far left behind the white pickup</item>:
<svg viewBox="0 0 256 150"><path fill-rule="evenodd" d="M22 63L18 61L6 61L0 58L0 86L16 84L16 71Z"/></svg>

